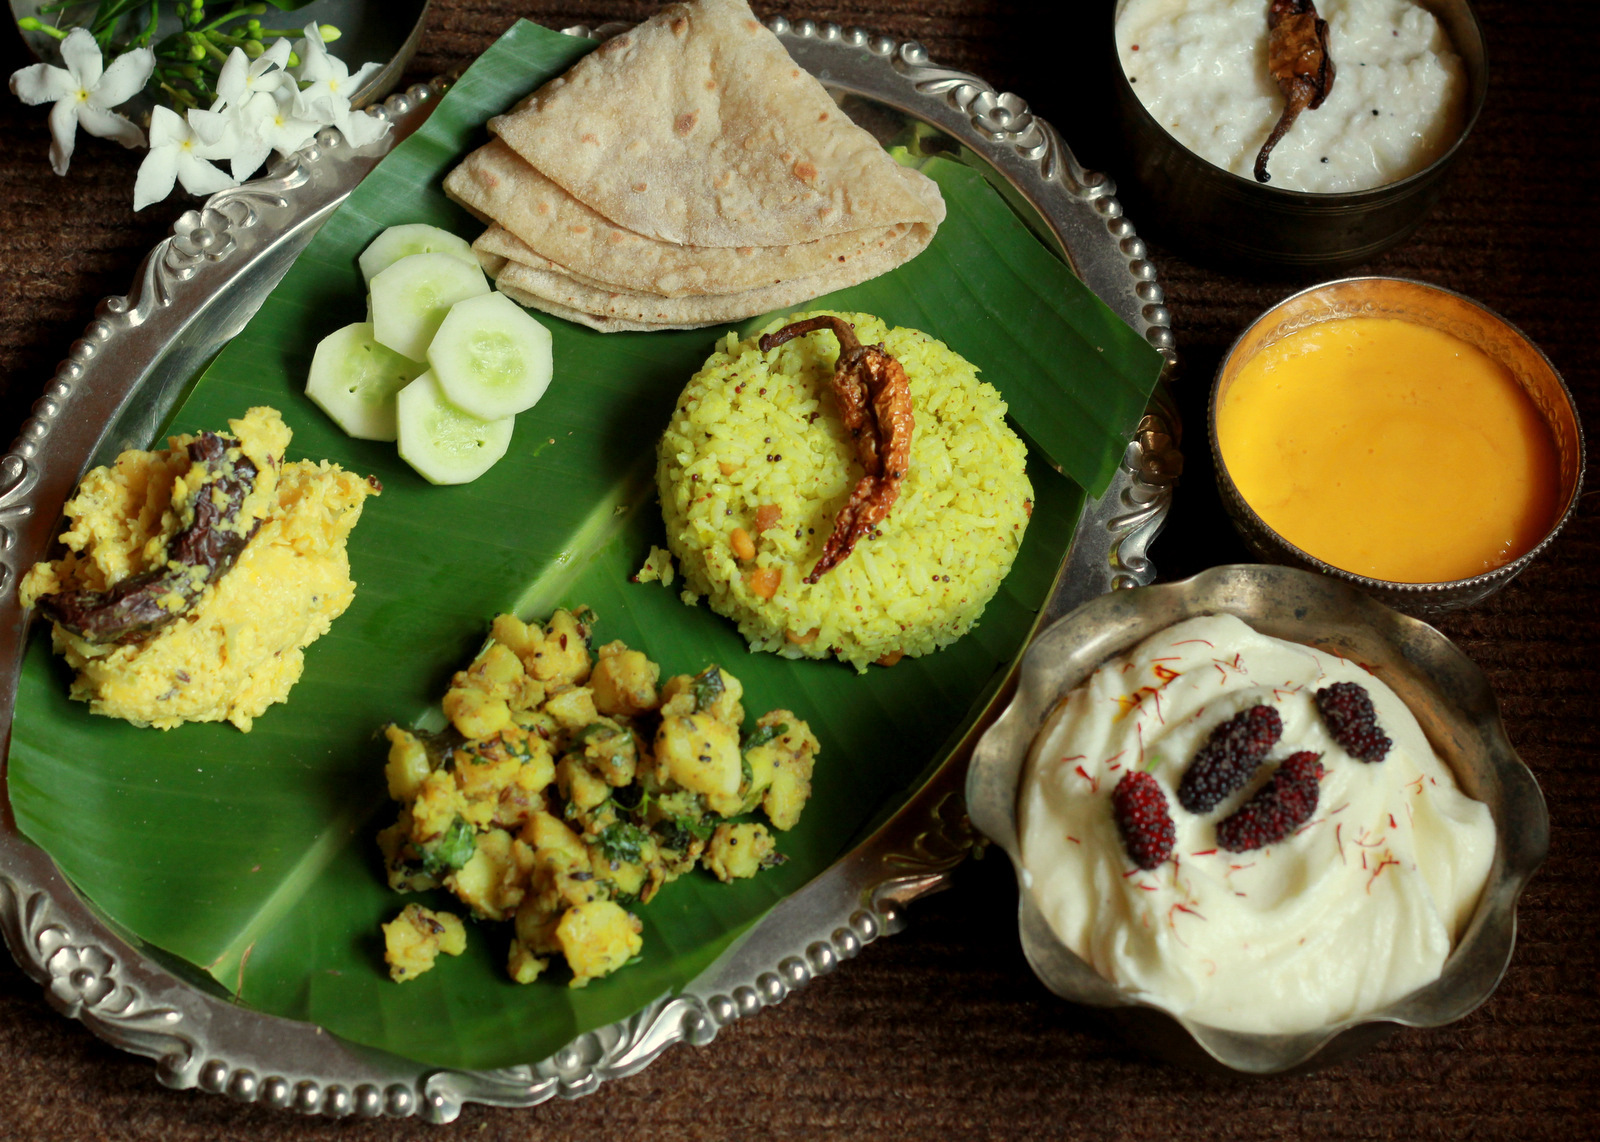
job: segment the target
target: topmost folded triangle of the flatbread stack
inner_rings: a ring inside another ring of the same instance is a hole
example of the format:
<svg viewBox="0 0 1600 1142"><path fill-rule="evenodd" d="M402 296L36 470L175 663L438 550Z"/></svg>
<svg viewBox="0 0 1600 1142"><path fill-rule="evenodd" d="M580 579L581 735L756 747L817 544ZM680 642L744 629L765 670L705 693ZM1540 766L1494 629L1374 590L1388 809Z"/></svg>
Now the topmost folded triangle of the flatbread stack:
<svg viewBox="0 0 1600 1142"><path fill-rule="evenodd" d="M579 203L688 246L787 246L944 203L805 72L744 0L672 5L490 131Z"/></svg>

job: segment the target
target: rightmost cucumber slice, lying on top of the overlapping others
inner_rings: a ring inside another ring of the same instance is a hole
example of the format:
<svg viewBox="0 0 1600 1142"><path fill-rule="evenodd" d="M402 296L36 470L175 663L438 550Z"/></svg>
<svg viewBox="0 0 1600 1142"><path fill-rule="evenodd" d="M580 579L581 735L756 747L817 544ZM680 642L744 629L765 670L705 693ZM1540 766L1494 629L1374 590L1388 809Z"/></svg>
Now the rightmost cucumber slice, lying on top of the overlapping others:
<svg viewBox="0 0 1600 1142"><path fill-rule="evenodd" d="M438 326L427 363L451 405L498 421L550 387L550 331L502 293L467 297Z"/></svg>

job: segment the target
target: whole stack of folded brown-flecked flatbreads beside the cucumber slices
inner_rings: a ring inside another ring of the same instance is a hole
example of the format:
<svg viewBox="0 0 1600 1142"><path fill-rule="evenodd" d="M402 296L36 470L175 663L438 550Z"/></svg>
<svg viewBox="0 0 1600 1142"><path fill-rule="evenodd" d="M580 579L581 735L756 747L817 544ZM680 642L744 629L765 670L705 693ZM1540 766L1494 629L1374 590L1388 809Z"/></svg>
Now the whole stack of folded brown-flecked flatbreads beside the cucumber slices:
<svg viewBox="0 0 1600 1142"><path fill-rule="evenodd" d="M677 3L506 115L445 179L501 291L595 329L734 321L877 277L938 187L840 112L744 0Z"/></svg>

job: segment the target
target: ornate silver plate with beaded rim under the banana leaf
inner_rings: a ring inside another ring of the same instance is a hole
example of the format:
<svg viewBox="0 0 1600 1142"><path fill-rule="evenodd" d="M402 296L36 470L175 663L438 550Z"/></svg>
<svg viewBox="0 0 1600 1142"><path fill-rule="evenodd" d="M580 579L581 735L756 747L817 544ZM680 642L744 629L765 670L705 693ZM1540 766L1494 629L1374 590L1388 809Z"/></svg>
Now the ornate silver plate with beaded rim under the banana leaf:
<svg viewBox="0 0 1600 1142"><path fill-rule="evenodd" d="M811 21L773 18L768 26L858 123L883 139L920 125L925 146L982 171L1034 232L1162 350L1168 368L1176 363L1155 267L1122 216L1115 187L1085 171L1021 99L930 62L917 43ZM621 26L606 26L597 35L616 30ZM378 114L395 130L370 147L352 150L323 133L264 179L186 213L150 251L130 294L101 302L72 344L0 459L0 745L10 745L27 641L16 584L48 552L80 475L155 437L190 379L237 336L357 182L422 123L445 86L392 96ZM1110 489L1085 507L1035 630L1083 600L1154 579L1146 549L1181 469L1176 437L1176 416L1158 392ZM192 987L120 939L78 897L50 856L21 837L3 789L0 929L51 1006L114 1046L154 1059L157 1076L173 1088L306 1113L434 1121L450 1121L466 1102L578 1097L677 1043L709 1043L722 1025L779 1003L898 931L906 905L942 888L971 848L962 781L971 745L1003 696L875 833L784 899L682 993L536 1064L491 1072L429 1067Z"/></svg>

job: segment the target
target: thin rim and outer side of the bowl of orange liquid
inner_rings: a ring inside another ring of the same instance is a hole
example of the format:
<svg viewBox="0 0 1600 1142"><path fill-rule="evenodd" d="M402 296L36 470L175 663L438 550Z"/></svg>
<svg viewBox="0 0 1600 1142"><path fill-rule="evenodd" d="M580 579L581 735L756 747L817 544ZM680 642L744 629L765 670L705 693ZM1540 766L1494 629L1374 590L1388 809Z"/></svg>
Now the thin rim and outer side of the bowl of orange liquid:
<svg viewBox="0 0 1600 1142"><path fill-rule="evenodd" d="M1238 489L1238 485L1234 483L1234 477L1227 470L1227 462L1222 459L1222 449L1216 440L1216 398L1222 384L1222 373L1234 360L1234 353L1238 352L1238 347L1245 342L1245 339L1251 333L1254 333L1274 313L1290 305L1291 302L1296 302L1301 297L1318 293L1322 289L1333 289L1334 286L1346 286L1346 285L1362 285L1368 282L1395 282L1400 285L1419 286L1422 289L1443 294L1446 297L1454 297L1456 301L1461 301L1477 309L1480 313L1485 313L1491 320L1499 321L1512 334L1520 337L1528 345L1528 349L1538 353L1539 360L1544 361L1544 366L1550 371L1550 376L1555 379L1557 387L1562 390L1562 397L1566 400L1566 406L1573 411L1573 424L1576 427L1576 440L1578 440L1578 472L1573 480L1573 494L1568 497L1566 507L1555 518L1555 523L1552 523L1549 531L1544 533L1544 537L1538 544L1530 547L1526 552L1514 558L1510 563L1504 563L1494 568L1493 571L1485 571L1483 574L1469 576L1466 579L1448 579L1440 582L1402 582L1397 579L1374 579L1373 576L1363 576L1355 571L1346 571L1344 568L1338 568L1333 563L1326 563L1312 555L1310 552L1304 550L1302 547L1296 547L1288 539L1285 539L1277 528L1274 528L1272 525L1269 525L1266 520L1261 518L1256 509L1251 507L1250 501ZM1315 569L1320 574L1339 579L1363 590L1386 592L1394 595L1395 598L1432 601L1435 606L1442 609L1451 609L1453 606L1469 606L1470 603L1482 601L1485 597L1488 597L1494 590L1499 590L1507 582L1522 574L1523 569L1526 569L1526 566L1533 563L1533 560L1541 552L1544 552L1544 549L1547 549L1552 542L1555 542L1555 537L1562 534L1562 529L1566 526L1568 520L1571 520L1573 515L1578 512L1578 505L1582 501L1582 493L1584 493L1584 475L1587 473L1587 443L1584 440L1584 422L1578 411L1578 400L1573 397L1573 390L1566 387L1566 377L1563 377L1562 371L1555 368L1555 363L1549 358L1544 349L1539 347L1539 342L1530 337L1515 321L1506 318L1504 315L1490 309L1475 297L1469 297L1467 294L1459 293L1456 289L1450 289L1448 286L1434 285L1432 282L1419 282L1416 278L1395 277L1389 274L1358 274L1354 277L1318 282L1315 285L1306 286L1304 289L1298 289L1291 293L1288 297L1282 297L1280 301L1275 301L1272 305L1264 309L1256 317L1256 320L1246 325L1240 331L1240 334L1234 337L1234 342L1227 347L1227 352L1222 353L1222 358L1218 361L1216 373L1211 377L1211 392L1206 397L1206 433L1211 438L1211 465L1216 470L1218 483L1224 486L1224 489L1230 494L1230 499L1237 504L1237 507L1250 515L1251 523L1254 523L1262 534L1270 536L1272 541L1277 545L1280 545L1288 555L1293 555L1294 558L1304 561L1309 568ZM1430 598L1430 597L1443 597L1446 593L1451 595L1459 593L1462 598L1458 603L1451 603L1450 600L1445 598Z"/></svg>

